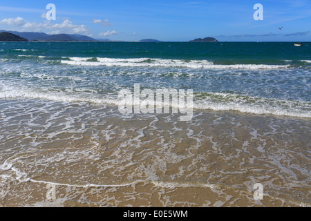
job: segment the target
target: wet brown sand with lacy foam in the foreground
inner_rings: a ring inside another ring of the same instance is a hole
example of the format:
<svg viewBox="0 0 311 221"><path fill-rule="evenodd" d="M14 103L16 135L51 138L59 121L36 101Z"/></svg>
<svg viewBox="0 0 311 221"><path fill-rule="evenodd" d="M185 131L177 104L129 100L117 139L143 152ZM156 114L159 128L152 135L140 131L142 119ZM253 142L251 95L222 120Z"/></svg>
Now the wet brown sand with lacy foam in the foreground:
<svg viewBox="0 0 311 221"><path fill-rule="evenodd" d="M310 119L195 111L180 122L35 99L0 108L3 206L311 205Z"/></svg>

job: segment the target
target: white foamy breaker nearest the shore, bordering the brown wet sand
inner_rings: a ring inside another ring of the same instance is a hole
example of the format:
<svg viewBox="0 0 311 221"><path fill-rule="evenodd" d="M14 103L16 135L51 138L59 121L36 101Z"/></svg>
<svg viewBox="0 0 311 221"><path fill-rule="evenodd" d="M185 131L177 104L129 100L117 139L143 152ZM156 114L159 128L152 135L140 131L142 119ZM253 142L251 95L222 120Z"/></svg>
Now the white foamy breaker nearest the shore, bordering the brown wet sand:
<svg viewBox="0 0 311 221"><path fill-rule="evenodd" d="M0 98L16 98L16 97L26 97L30 99L46 99L55 102L91 102L94 104L111 104L118 105L118 99L109 99L107 97L79 97L70 96L64 93L45 93L45 92L35 92L32 90L23 90L17 88L6 88L5 91L0 92ZM214 101L214 95L220 97L220 101L217 99ZM207 97L203 97L202 100L197 100L194 102L194 109L197 110L214 110L214 111L240 111L241 113L252 113L256 115L279 115L288 117L304 117L311 118L310 111L300 111L299 108L292 108L293 105L299 104L304 108L310 108L308 102L292 102L289 100L278 100L278 99L266 99L261 97L248 97L248 100L252 100L255 103L245 104L243 101L244 97L238 98L239 95L232 95L226 93L208 93ZM227 99L227 100L221 100ZM229 100L228 100L229 99ZM256 102L260 100L260 102ZM287 106L286 109L279 106L279 102ZM270 106L271 103L276 104L276 106ZM263 104L263 105L262 105ZM170 105L170 104L169 104Z"/></svg>

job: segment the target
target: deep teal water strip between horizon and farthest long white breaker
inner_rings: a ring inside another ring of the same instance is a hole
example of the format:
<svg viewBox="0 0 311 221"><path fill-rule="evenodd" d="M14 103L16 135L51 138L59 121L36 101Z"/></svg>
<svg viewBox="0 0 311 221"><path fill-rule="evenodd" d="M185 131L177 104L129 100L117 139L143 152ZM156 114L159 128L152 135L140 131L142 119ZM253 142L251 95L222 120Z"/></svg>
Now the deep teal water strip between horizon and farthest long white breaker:
<svg viewBox="0 0 311 221"><path fill-rule="evenodd" d="M16 49L30 50L28 55L50 57L110 57L207 59L223 64L275 64L284 60L310 59L310 42L295 47L292 42L6 42L1 43L1 55L19 55ZM235 63L236 62L236 63ZM243 63L244 62L244 63Z"/></svg>

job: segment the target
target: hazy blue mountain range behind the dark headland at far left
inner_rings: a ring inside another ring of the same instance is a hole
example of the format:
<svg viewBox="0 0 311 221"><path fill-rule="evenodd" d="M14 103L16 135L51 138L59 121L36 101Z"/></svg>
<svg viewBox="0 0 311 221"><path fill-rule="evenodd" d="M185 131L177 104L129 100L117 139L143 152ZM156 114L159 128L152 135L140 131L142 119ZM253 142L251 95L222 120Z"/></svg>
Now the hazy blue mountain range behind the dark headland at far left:
<svg viewBox="0 0 311 221"><path fill-rule="evenodd" d="M59 34L59 35L48 35L43 32L15 32L0 30L0 32L10 32L14 35L19 35L28 41L96 41L95 39L88 37L86 35L69 35L69 34Z"/></svg>

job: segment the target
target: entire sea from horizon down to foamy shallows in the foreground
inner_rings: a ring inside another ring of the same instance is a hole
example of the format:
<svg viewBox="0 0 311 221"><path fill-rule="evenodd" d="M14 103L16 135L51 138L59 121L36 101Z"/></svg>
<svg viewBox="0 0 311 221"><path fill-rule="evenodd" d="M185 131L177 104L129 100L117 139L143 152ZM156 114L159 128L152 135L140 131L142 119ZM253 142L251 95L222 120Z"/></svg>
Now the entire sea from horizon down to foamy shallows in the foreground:
<svg viewBox="0 0 311 221"><path fill-rule="evenodd" d="M0 205L311 206L310 45L0 42Z"/></svg>

